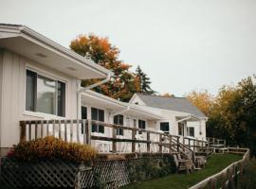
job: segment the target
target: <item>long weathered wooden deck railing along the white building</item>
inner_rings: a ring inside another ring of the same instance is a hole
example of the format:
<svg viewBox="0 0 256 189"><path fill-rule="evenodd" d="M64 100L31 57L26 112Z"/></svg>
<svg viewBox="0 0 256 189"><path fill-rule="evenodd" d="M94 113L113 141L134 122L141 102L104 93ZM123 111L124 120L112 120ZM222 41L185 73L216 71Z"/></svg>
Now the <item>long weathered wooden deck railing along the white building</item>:
<svg viewBox="0 0 256 189"><path fill-rule="evenodd" d="M108 135L92 132L92 126L103 126ZM30 141L32 139L46 136L55 136L68 142L78 142L92 145L92 141L109 142L112 145L112 152L118 151L118 143L131 144L131 152L136 152L137 144L144 144L145 152L153 152L152 146L156 146L155 152L180 151L179 136L149 129L137 129L114 124L103 123L93 120L31 120L20 121L21 135L20 141ZM106 130L108 129L108 130ZM117 135L117 129L124 130L124 136ZM142 133L144 137L138 138L137 133ZM183 146L184 148L184 146Z"/></svg>

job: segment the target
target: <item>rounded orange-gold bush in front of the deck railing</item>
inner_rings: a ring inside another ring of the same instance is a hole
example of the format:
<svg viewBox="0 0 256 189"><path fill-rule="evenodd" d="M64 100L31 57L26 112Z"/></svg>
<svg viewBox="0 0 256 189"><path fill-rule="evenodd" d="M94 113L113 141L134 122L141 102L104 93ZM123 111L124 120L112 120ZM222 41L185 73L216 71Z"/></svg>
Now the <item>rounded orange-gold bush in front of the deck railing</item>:
<svg viewBox="0 0 256 189"><path fill-rule="evenodd" d="M90 163L96 159L97 151L87 145L64 142L48 136L29 142L22 142L9 155L22 161L61 159L73 163Z"/></svg>

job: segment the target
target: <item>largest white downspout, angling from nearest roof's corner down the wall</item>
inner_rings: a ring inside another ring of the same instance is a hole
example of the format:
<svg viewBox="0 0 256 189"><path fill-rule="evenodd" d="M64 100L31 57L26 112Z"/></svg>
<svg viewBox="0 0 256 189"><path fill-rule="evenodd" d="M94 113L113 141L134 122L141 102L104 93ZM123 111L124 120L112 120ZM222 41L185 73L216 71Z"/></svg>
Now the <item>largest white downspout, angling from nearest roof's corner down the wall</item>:
<svg viewBox="0 0 256 189"><path fill-rule="evenodd" d="M83 92L86 92L87 90L93 89L101 84L108 82L110 80L111 76L112 76L111 74L108 74L107 77L105 77L103 80L96 82L92 85L89 85L87 87L81 87L81 80L77 81L77 89L78 89L78 92L77 92L77 119L81 118L81 94Z"/></svg>

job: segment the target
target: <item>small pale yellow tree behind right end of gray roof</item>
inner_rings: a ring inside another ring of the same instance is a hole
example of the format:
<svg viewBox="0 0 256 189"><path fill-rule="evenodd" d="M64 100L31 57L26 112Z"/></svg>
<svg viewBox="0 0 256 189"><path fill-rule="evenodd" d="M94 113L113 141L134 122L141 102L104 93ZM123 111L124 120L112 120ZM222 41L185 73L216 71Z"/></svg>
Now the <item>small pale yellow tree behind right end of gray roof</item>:
<svg viewBox="0 0 256 189"><path fill-rule="evenodd" d="M188 99L205 115L210 115L210 109L213 102L213 96L207 91L192 91L187 94Z"/></svg>

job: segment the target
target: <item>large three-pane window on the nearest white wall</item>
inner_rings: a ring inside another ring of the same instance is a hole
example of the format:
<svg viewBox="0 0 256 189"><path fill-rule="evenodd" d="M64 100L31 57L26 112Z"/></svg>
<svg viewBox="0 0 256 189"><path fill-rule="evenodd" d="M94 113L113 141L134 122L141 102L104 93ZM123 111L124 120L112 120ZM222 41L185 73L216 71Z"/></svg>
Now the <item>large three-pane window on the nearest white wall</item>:
<svg viewBox="0 0 256 189"><path fill-rule="evenodd" d="M26 111L65 116L65 83L27 70Z"/></svg>

